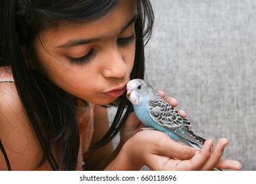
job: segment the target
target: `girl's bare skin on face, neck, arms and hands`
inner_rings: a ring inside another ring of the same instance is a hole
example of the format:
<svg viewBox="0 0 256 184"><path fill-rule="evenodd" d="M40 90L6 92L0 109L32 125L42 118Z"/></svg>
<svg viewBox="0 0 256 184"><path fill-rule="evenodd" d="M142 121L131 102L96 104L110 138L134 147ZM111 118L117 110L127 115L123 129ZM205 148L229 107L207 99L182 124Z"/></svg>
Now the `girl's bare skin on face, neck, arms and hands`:
<svg viewBox="0 0 256 184"><path fill-rule="evenodd" d="M94 133L91 145L101 139L109 128L108 104L117 97L108 95L113 89L125 87L134 64L135 41L122 45L120 41L134 34L136 6L130 1L120 3L113 11L93 22L61 22L57 28L44 30L33 43L30 64L72 97L95 103ZM115 22L115 24L113 24ZM72 34L70 34L72 33ZM97 38L97 39L95 39ZM90 39L90 43L74 45ZM71 44L72 43L72 44ZM72 63L70 58L93 55L86 63ZM3 92L4 91L4 92ZM178 101L159 93L172 106ZM180 111L182 116L186 112ZM224 168L240 170L236 160L221 158L228 140L220 139L211 150L212 140L203 149L179 145L165 133L140 131L143 124L134 113L128 116L120 130L120 143L114 150L112 143L91 149L86 158L86 170L140 170L146 165L152 170L212 170ZM41 149L30 129L28 119L18 98L14 83L0 83L0 138L13 170L34 170ZM136 147L134 146L136 145ZM0 163L5 163L0 152ZM0 164L0 170L7 170ZM47 161L38 170L51 170Z"/></svg>

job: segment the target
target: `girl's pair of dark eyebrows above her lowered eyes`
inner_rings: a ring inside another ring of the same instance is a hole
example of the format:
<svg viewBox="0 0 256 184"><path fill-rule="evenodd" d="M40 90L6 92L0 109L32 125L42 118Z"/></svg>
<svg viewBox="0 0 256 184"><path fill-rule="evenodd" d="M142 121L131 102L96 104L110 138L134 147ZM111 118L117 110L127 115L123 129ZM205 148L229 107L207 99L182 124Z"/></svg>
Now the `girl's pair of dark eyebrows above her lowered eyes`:
<svg viewBox="0 0 256 184"><path fill-rule="evenodd" d="M138 18L138 14L135 14L134 16L132 16L130 21L127 24L125 24L125 26L121 29L121 32L123 32L131 24L136 22L137 18ZM64 48L74 47L74 46L77 46L77 45L84 45L84 44L88 44L88 43L98 42L98 41L101 41L102 39L104 39L104 37L93 37L93 38L90 38L90 39L71 39L70 41L68 41L66 43L63 43L62 45L59 45L57 47L64 47Z"/></svg>

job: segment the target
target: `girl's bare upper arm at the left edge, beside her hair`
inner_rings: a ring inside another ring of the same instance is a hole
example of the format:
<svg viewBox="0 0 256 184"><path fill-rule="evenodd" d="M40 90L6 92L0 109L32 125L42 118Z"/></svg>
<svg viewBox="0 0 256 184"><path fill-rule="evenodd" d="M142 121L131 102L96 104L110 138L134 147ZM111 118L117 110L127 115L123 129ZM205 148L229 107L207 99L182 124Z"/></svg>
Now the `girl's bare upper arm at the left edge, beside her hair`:
<svg viewBox="0 0 256 184"><path fill-rule="evenodd" d="M12 170L32 170L41 150L18 96L14 82L0 82L0 139ZM6 160L0 150L0 163ZM0 170L7 170L0 164Z"/></svg>

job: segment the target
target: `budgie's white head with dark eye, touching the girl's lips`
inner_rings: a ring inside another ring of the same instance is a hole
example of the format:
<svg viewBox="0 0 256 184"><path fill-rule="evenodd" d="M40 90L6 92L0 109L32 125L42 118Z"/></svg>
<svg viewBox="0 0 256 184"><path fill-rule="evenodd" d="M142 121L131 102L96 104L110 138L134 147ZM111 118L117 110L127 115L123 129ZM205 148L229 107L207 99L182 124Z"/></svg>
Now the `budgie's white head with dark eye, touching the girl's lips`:
<svg viewBox="0 0 256 184"><path fill-rule="evenodd" d="M141 104L143 99L147 98L151 91L154 91L147 81L141 79L129 81L126 85L126 89L126 97L134 105Z"/></svg>

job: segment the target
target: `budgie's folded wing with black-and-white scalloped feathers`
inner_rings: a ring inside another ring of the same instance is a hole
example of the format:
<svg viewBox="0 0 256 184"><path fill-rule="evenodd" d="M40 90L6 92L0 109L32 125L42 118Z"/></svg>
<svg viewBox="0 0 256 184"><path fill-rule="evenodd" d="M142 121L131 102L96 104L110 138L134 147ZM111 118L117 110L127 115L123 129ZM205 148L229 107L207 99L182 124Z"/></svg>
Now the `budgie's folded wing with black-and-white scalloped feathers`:
<svg viewBox="0 0 256 184"><path fill-rule="evenodd" d="M180 135L180 137L196 144L203 144L205 139L193 133L190 129L190 122L180 116L170 104L161 96L149 100L149 116L159 124L159 126Z"/></svg>

